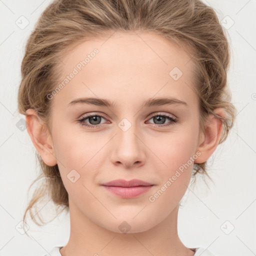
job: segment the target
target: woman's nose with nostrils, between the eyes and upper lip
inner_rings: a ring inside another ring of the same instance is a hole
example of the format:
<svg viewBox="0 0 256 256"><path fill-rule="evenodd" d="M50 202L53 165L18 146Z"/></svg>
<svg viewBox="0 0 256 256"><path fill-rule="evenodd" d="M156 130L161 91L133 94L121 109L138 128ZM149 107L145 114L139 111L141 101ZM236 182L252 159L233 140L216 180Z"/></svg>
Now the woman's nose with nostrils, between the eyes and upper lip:
<svg viewBox="0 0 256 256"><path fill-rule="evenodd" d="M126 131L117 126L116 132L112 140L110 160L115 165L123 165L125 168L143 165L146 146L135 125L131 125Z"/></svg>

